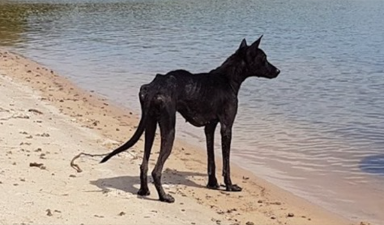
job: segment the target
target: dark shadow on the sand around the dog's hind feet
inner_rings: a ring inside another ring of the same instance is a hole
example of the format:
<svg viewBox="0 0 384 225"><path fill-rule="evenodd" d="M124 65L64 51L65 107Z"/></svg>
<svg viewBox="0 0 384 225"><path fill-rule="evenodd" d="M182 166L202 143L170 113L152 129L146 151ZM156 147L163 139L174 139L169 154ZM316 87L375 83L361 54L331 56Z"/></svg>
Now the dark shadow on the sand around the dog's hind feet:
<svg viewBox="0 0 384 225"><path fill-rule="evenodd" d="M206 188L205 185L197 184L191 181L193 177L205 177L206 174L190 172L190 171L177 171L173 169L165 169L162 174L163 187L166 190L167 186L182 185L196 188ZM198 178L200 179L200 178ZM148 173L148 186L153 185L153 179L151 173ZM136 195L140 188L140 176L116 176L108 178L100 178L96 181L91 181L91 185L95 185L100 188L102 192L109 192L113 189L124 191ZM153 192L153 191L152 191ZM157 196L157 193L151 193L153 196ZM155 200L150 196L139 196L147 200Z"/></svg>

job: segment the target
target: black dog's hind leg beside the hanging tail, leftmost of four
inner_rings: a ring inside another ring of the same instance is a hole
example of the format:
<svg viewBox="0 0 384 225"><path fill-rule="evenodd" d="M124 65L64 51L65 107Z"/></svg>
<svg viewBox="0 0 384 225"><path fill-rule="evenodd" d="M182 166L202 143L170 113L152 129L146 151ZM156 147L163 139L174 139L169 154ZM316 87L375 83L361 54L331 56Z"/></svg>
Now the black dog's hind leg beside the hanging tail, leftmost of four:
<svg viewBox="0 0 384 225"><path fill-rule="evenodd" d="M144 142L144 157L140 165L140 190L138 195L150 195L150 189L148 189L147 172L148 172L148 160L150 159L151 149L153 141L155 139L157 121L154 116L150 116L147 119L145 126L145 142Z"/></svg>

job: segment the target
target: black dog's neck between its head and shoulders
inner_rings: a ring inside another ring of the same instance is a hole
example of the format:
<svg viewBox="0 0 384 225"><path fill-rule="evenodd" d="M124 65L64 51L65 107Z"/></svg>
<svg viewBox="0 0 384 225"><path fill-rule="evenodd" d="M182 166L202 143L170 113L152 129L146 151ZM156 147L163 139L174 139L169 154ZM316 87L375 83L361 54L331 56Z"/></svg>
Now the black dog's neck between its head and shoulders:
<svg viewBox="0 0 384 225"><path fill-rule="evenodd" d="M231 55L223 64L210 73L220 74L228 78L228 82L236 95L239 93L241 84L250 76L246 68L246 63L240 59L236 53Z"/></svg>

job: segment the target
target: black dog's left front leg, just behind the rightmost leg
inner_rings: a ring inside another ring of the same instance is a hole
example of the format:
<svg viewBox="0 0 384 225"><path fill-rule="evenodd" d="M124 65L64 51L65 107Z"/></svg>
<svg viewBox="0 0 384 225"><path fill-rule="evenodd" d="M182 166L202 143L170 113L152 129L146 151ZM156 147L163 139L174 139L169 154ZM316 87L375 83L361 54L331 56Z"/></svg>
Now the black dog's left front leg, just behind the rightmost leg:
<svg viewBox="0 0 384 225"><path fill-rule="evenodd" d="M218 122L212 122L204 127L205 138L207 142L207 155L208 155L208 184L209 189L218 189L220 186L216 179L216 165L215 165L215 129Z"/></svg>

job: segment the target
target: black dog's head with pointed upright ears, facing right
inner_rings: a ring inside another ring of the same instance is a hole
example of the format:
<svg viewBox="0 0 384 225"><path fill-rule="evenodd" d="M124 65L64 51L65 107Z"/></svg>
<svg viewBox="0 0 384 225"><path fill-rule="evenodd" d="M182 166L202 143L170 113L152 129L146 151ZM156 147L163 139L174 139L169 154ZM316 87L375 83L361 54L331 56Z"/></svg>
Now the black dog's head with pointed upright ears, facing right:
<svg viewBox="0 0 384 225"><path fill-rule="evenodd" d="M243 39L236 54L245 64L247 76L275 78L280 74L280 70L268 62L267 55L259 49L260 41L263 35L253 42L250 46Z"/></svg>

